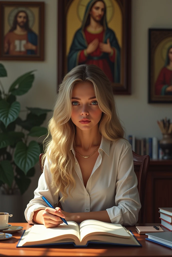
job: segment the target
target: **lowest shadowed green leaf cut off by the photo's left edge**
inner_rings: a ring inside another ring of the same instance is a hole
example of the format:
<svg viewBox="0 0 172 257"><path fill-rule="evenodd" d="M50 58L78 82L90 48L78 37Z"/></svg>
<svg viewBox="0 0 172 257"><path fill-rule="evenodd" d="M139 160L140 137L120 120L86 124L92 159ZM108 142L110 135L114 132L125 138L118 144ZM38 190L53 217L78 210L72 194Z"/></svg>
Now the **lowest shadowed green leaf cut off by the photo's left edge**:
<svg viewBox="0 0 172 257"><path fill-rule="evenodd" d="M0 162L0 180L6 183L9 187L12 186L14 179L13 166L8 160Z"/></svg>

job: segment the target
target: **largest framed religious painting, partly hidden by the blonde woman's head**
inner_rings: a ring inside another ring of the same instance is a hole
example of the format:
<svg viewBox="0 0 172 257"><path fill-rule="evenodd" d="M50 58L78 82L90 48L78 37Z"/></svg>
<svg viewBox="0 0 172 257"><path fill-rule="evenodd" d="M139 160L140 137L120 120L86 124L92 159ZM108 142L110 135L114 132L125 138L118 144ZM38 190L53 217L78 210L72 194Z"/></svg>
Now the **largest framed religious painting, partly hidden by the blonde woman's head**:
<svg viewBox="0 0 172 257"><path fill-rule="evenodd" d="M58 42L58 50L63 48L62 55L58 53L64 60L62 63L58 58L58 82L77 65L94 64L109 78L115 94L131 94L131 1L64 0L63 3L58 6L58 38L63 42Z"/></svg>

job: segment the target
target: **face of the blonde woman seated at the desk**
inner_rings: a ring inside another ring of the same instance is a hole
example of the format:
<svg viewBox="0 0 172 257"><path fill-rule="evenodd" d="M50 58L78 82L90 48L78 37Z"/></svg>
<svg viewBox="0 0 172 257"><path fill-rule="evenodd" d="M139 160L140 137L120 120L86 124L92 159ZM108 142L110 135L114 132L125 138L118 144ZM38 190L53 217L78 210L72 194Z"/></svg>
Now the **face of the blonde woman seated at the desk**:
<svg viewBox="0 0 172 257"><path fill-rule="evenodd" d="M74 86L71 104L71 120L81 130L90 130L100 121L102 111L98 106L94 87L91 83L82 82ZM84 118L87 118L90 122L82 124L80 121Z"/></svg>

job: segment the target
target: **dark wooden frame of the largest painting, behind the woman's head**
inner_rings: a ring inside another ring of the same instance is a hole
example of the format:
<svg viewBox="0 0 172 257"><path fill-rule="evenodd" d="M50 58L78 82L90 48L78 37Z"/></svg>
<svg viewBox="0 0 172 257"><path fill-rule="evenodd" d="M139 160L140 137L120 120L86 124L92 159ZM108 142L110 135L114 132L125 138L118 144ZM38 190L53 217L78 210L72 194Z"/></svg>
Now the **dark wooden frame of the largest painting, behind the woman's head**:
<svg viewBox="0 0 172 257"><path fill-rule="evenodd" d="M66 63L66 17L73 0L58 1L58 85L67 74ZM122 79L120 83L113 83L113 93L116 95L131 94L131 0L116 1L122 13ZM58 86L57 86L58 91Z"/></svg>

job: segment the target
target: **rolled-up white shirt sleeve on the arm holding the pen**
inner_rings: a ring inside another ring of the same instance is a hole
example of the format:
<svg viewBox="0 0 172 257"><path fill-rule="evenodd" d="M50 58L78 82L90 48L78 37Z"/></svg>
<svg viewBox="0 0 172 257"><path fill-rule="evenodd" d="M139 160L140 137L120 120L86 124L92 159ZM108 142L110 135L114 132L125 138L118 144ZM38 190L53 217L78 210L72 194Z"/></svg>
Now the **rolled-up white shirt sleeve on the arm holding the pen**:
<svg viewBox="0 0 172 257"><path fill-rule="evenodd" d="M33 215L36 210L41 210L48 207L48 205L46 205L46 203L42 200L41 196L45 196L51 204L54 204L56 201L50 188L52 179L49 168L50 164L46 157L43 173L39 178L38 187L34 191L34 198L30 200L25 210L25 218L29 224L36 224L33 222Z"/></svg>

